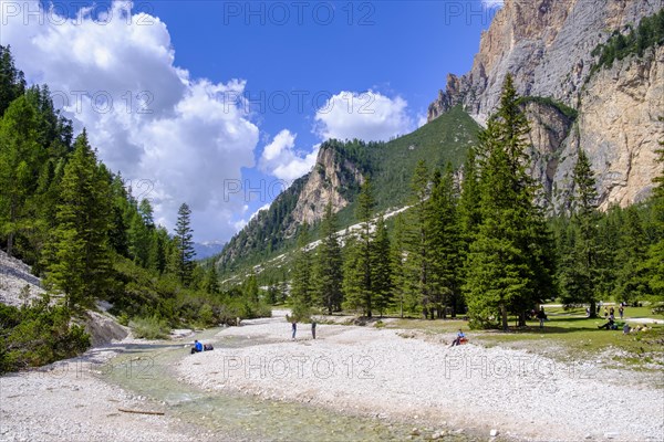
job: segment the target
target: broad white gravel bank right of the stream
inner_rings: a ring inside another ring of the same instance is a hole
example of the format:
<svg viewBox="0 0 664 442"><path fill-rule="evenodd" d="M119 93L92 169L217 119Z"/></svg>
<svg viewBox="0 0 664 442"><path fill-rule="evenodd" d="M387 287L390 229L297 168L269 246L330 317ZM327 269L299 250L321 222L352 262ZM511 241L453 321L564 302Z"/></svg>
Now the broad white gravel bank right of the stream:
<svg viewBox="0 0 664 442"><path fill-rule="evenodd" d="M487 435L496 429L532 441L664 440L664 391L629 370L528 350L449 348L392 329L319 325L312 340L300 325L292 341L283 317L243 324L219 337L256 345L188 356L178 366L181 378L209 390L425 419Z"/></svg>

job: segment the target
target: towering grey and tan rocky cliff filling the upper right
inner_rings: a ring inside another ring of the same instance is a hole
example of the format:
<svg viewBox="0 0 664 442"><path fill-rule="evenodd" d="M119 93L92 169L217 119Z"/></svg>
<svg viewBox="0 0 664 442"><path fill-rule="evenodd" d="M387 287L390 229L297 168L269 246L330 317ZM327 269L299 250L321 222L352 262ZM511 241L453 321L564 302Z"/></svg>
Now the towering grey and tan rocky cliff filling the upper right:
<svg viewBox="0 0 664 442"><path fill-rule="evenodd" d="M554 207L570 192L579 147L589 152L602 207L639 201L656 173L654 150L664 133L657 120L664 114L662 46L599 71L593 50L663 7L664 0L506 0L481 35L471 71L448 75L428 120L461 105L485 124L509 72L522 96L553 98L578 112L569 118L544 102L526 109L533 176Z"/></svg>

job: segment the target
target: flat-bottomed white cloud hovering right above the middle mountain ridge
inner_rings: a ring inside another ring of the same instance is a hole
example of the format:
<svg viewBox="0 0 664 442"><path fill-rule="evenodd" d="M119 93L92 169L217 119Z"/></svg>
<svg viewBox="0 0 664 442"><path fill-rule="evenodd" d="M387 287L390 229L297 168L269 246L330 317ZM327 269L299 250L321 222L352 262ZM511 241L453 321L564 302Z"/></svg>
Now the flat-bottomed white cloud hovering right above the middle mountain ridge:
<svg viewBox="0 0 664 442"><path fill-rule="evenodd" d="M342 91L315 114L317 134L323 139L387 140L412 131L416 125L407 113L407 102L377 92Z"/></svg>

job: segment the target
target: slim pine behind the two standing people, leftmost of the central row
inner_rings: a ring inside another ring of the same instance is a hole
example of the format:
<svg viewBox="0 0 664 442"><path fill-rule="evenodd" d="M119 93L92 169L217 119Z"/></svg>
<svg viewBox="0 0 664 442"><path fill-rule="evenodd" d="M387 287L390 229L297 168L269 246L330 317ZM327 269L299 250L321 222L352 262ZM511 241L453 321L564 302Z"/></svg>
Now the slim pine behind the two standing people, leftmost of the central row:
<svg viewBox="0 0 664 442"><path fill-rule="evenodd" d="M313 287L311 281L312 263L309 245L309 225L302 224L298 234L298 249L293 257L291 278L291 306L295 320L309 317L312 305Z"/></svg>

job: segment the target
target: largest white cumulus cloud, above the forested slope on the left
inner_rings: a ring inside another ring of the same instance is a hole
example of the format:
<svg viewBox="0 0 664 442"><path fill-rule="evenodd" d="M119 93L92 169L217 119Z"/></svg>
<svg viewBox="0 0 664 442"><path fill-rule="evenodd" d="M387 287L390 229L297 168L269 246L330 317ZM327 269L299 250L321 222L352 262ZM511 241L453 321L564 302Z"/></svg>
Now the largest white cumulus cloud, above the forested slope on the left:
<svg viewBox="0 0 664 442"><path fill-rule="evenodd" d="M0 1L1 43L11 45L17 66L50 86L54 104L76 129L87 128L112 170L151 183L142 197L152 199L156 219L172 228L187 202L197 240L228 239L243 201L225 190L255 165L259 136L225 99L241 95L245 83L191 78L174 64L166 24L133 13L131 2L83 9L73 19L65 3L54 4Z"/></svg>

